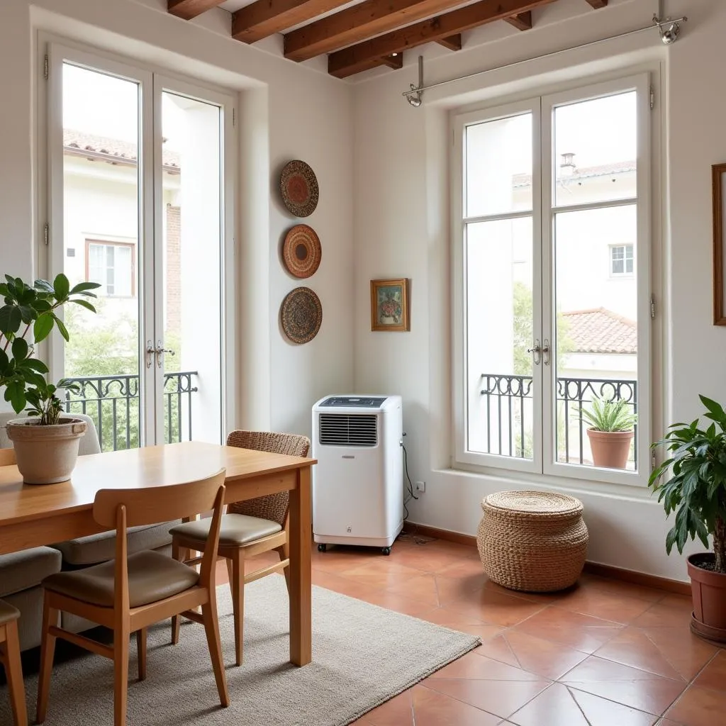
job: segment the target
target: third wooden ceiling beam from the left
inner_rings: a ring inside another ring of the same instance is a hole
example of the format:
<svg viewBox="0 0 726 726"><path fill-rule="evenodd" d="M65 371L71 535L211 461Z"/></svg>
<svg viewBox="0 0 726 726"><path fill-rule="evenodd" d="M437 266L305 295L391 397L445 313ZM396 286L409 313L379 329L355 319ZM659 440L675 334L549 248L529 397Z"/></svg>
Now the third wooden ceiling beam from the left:
<svg viewBox="0 0 726 726"><path fill-rule="evenodd" d="M285 57L297 61L309 60L460 4L462 0L364 0L335 15L287 33Z"/></svg>

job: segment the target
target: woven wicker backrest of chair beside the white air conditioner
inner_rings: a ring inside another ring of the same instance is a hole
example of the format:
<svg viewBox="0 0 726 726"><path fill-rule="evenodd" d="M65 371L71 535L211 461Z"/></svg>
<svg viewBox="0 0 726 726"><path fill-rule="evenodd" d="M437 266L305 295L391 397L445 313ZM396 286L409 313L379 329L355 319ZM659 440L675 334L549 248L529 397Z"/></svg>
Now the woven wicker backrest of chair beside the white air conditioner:
<svg viewBox="0 0 726 726"><path fill-rule="evenodd" d="M227 436L227 446L306 457L310 451L310 439L297 433L232 431ZM289 506L290 492L278 492L277 494L267 494L265 497L257 497L257 499L248 499L246 502L234 502L227 507L227 512L269 519L287 529L286 520Z"/></svg>

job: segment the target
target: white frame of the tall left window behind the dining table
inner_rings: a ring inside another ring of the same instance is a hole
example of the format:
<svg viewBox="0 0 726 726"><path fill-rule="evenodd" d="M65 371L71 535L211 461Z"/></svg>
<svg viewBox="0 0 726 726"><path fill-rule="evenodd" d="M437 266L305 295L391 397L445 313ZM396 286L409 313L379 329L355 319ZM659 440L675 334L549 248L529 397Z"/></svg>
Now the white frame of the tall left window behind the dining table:
<svg viewBox="0 0 726 726"><path fill-rule="evenodd" d="M48 59L49 77L38 83L38 109L37 140L38 148L38 220L37 229L43 230L49 224L48 242L44 234L38 234L38 270L41 274L49 276L52 270L62 269L63 266L63 148L62 148L62 64L66 60L76 65L85 66L91 70L109 73L112 76L130 78L139 83L139 89L147 104L155 104L155 115L160 118L160 90L186 95L189 98L203 102L211 102L221 108L220 131L224 153L221 155L221 230L223 243L221 246L221 351L220 364L222 368L222 383L224 391L221 396L221 441L225 432L236 415L237 401L237 375L234 351L237 350L237 306L235 304L235 290L237 289L237 264L234 249L237 217L235 215L235 196L237 189L237 159L238 139L237 129L234 127L234 118L237 110L239 94L214 86L207 81L196 81L184 76L176 76L167 69L144 62L137 62L131 57L123 57L113 52L97 49L85 44L69 41L51 33L38 34L38 69L43 79L44 58ZM158 103L157 103L158 102ZM160 124L156 129L150 114L143 114L139 121L139 137L142 139L139 148L139 229L137 240L154 240L155 234L160 240L163 232L163 217L165 209L155 204L160 195L160 177L155 187L155 160L161 158L163 144ZM60 193L59 193L60 190ZM154 213L147 213L152 209ZM137 245L136 265L147 266L147 282L142 289L136 285L136 298L139 301L139 311L142 311L144 298L147 295L161 295L162 270L155 265L153 245ZM142 259L143 258L143 259ZM152 326L153 332L163 331L163 305L160 301L155 304L155 315ZM62 313L61 313L62 314ZM144 316L139 314L139 325L144 327ZM151 330L144 330L143 340L158 338L153 336ZM47 358L52 378L61 378L64 368L64 353L62 340L52 335L47 341ZM140 375L143 377L147 367L143 364L145 352L139 351L141 363ZM155 368L155 366L153 367ZM147 374L148 375L148 374ZM141 445L145 446L156 440L163 442L164 412L163 405L152 407L147 400L152 397L163 401L163 382L160 391L155 385L142 386L140 393L140 410L146 412L145 426L142 428ZM144 389L147 393L144 396ZM155 411L155 408L158 409ZM154 415L156 414L156 415Z"/></svg>

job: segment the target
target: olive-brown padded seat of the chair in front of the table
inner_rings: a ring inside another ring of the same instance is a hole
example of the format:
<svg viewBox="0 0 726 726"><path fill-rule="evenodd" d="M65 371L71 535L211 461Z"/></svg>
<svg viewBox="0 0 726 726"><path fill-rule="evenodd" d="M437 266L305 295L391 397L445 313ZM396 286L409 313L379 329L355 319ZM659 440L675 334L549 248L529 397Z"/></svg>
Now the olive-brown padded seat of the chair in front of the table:
<svg viewBox="0 0 726 726"><path fill-rule="evenodd" d="M59 572L46 577L43 587L74 597L83 603L113 607L115 562L73 572ZM158 603L199 582L199 574L184 563L160 555L158 552L136 552L129 557L129 604L139 608Z"/></svg>

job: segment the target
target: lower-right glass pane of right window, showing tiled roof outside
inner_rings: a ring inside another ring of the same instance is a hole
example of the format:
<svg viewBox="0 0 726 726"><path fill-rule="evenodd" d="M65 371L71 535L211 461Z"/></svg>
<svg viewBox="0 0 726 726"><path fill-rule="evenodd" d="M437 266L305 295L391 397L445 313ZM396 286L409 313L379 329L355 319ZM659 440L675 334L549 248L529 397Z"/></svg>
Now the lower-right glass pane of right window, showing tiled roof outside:
<svg viewBox="0 0 726 726"><path fill-rule="evenodd" d="M623 414L637 413L637 280L622 272L629 248L617 245L637 234L635 205L558 213L555 217L557 460L605 468L637 468L631 434L623 439L621 462L605 459L592 423L583 412L625 401ZM611 242L616 246L611 247ZM619 258L616 258L619 255ZM612 402L612 403L611 403ZM605 427L607 428L607 427ZM633 431L632 422L626 427ZM612 440L613 437L609 437Z"/></svg>

